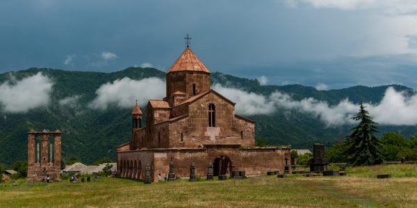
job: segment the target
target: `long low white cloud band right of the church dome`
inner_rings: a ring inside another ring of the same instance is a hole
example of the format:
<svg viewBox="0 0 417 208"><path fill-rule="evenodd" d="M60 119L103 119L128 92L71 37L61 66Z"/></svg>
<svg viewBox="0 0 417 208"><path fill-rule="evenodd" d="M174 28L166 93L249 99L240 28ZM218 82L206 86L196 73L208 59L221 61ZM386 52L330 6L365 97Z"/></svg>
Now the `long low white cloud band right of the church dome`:
<svg viewBox="0 0 417 208"><path fill-rule="evenodd" d="M352 124L350 119L359 110L359 104L352 103L348 98L338 105L329 105L325 101L304 98L295 101L290 95L274 92L269 96L245 92L240 89L214 85L213 89L231 101L236 102L236 112L243 115L271 114L277 110L298 110L318 117L327 126ZM407 97L403 92L395 92L389 87L384 98L377 104L364 103L368 106L374 121L383 125L416 125L417 95Z"/></svg>

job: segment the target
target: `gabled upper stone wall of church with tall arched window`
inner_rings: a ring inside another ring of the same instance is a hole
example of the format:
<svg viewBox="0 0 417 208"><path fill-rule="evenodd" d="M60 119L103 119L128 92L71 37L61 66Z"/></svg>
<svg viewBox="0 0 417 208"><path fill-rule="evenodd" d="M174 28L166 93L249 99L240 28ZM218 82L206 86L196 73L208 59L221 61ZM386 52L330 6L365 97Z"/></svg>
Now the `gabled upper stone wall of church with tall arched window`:
<svg viewBox="0 0 417 208"><path fill-rule="evenodd" d="M208 105L215 105L215 127L208 127ZM170 123L170 147L202 144L254 146L254 123L234 116L234 105L211 92L188 105L189 116ZM181 141L182 134L182 141Z"/></svg>

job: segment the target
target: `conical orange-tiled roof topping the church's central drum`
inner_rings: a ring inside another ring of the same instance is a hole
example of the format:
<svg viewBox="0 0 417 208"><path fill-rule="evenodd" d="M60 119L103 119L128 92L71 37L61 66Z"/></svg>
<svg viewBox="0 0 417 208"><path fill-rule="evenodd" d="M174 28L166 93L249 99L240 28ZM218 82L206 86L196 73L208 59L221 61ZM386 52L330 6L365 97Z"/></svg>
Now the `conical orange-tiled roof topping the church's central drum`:
<svg viewBox="0 0 417 208"><path fill-rule="evenodd" d="M186 50L179 56L177 61L172 64L172 67L167 71L167 73L174 72L174 71L202 71L206 73L211 73L210 70L203 64L197 55L191 51L190 48L186 48Z"/></svg>

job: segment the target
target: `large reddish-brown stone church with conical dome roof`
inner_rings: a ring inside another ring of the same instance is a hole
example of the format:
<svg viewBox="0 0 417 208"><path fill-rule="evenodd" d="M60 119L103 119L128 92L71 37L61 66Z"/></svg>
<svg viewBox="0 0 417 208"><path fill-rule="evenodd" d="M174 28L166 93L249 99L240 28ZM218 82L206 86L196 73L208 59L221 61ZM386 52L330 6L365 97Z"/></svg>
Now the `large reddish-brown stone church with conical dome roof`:
<svg viewBox="0 0 417 208"><path fill-rule="evenodd" d="M187 46L166 73L165 98L147 103L145 127L135 105L131 141L117 147L122 177L144 179L149 164L154 181L159 173L169 173L171 160L176 177L188 177L191 163L200 177L209 163L215 176L291 171L291 148L256 147L255 121L235 114L236 103L211 89L210 75Z"/></svg>

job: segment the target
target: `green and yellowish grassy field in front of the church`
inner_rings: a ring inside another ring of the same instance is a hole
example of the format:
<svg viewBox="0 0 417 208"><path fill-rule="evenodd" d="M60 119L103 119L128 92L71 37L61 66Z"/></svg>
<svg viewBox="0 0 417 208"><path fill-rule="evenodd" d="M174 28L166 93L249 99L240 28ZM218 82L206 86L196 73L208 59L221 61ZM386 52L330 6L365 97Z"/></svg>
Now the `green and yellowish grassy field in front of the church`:
<svg viewBox="0 0 417 208"><path fill-rule="evenodd" d="M0 207L417 207L417 165L347 169L347 176L246 180L0 184ZM378 173L393 178L376 179Z"/></svg>

